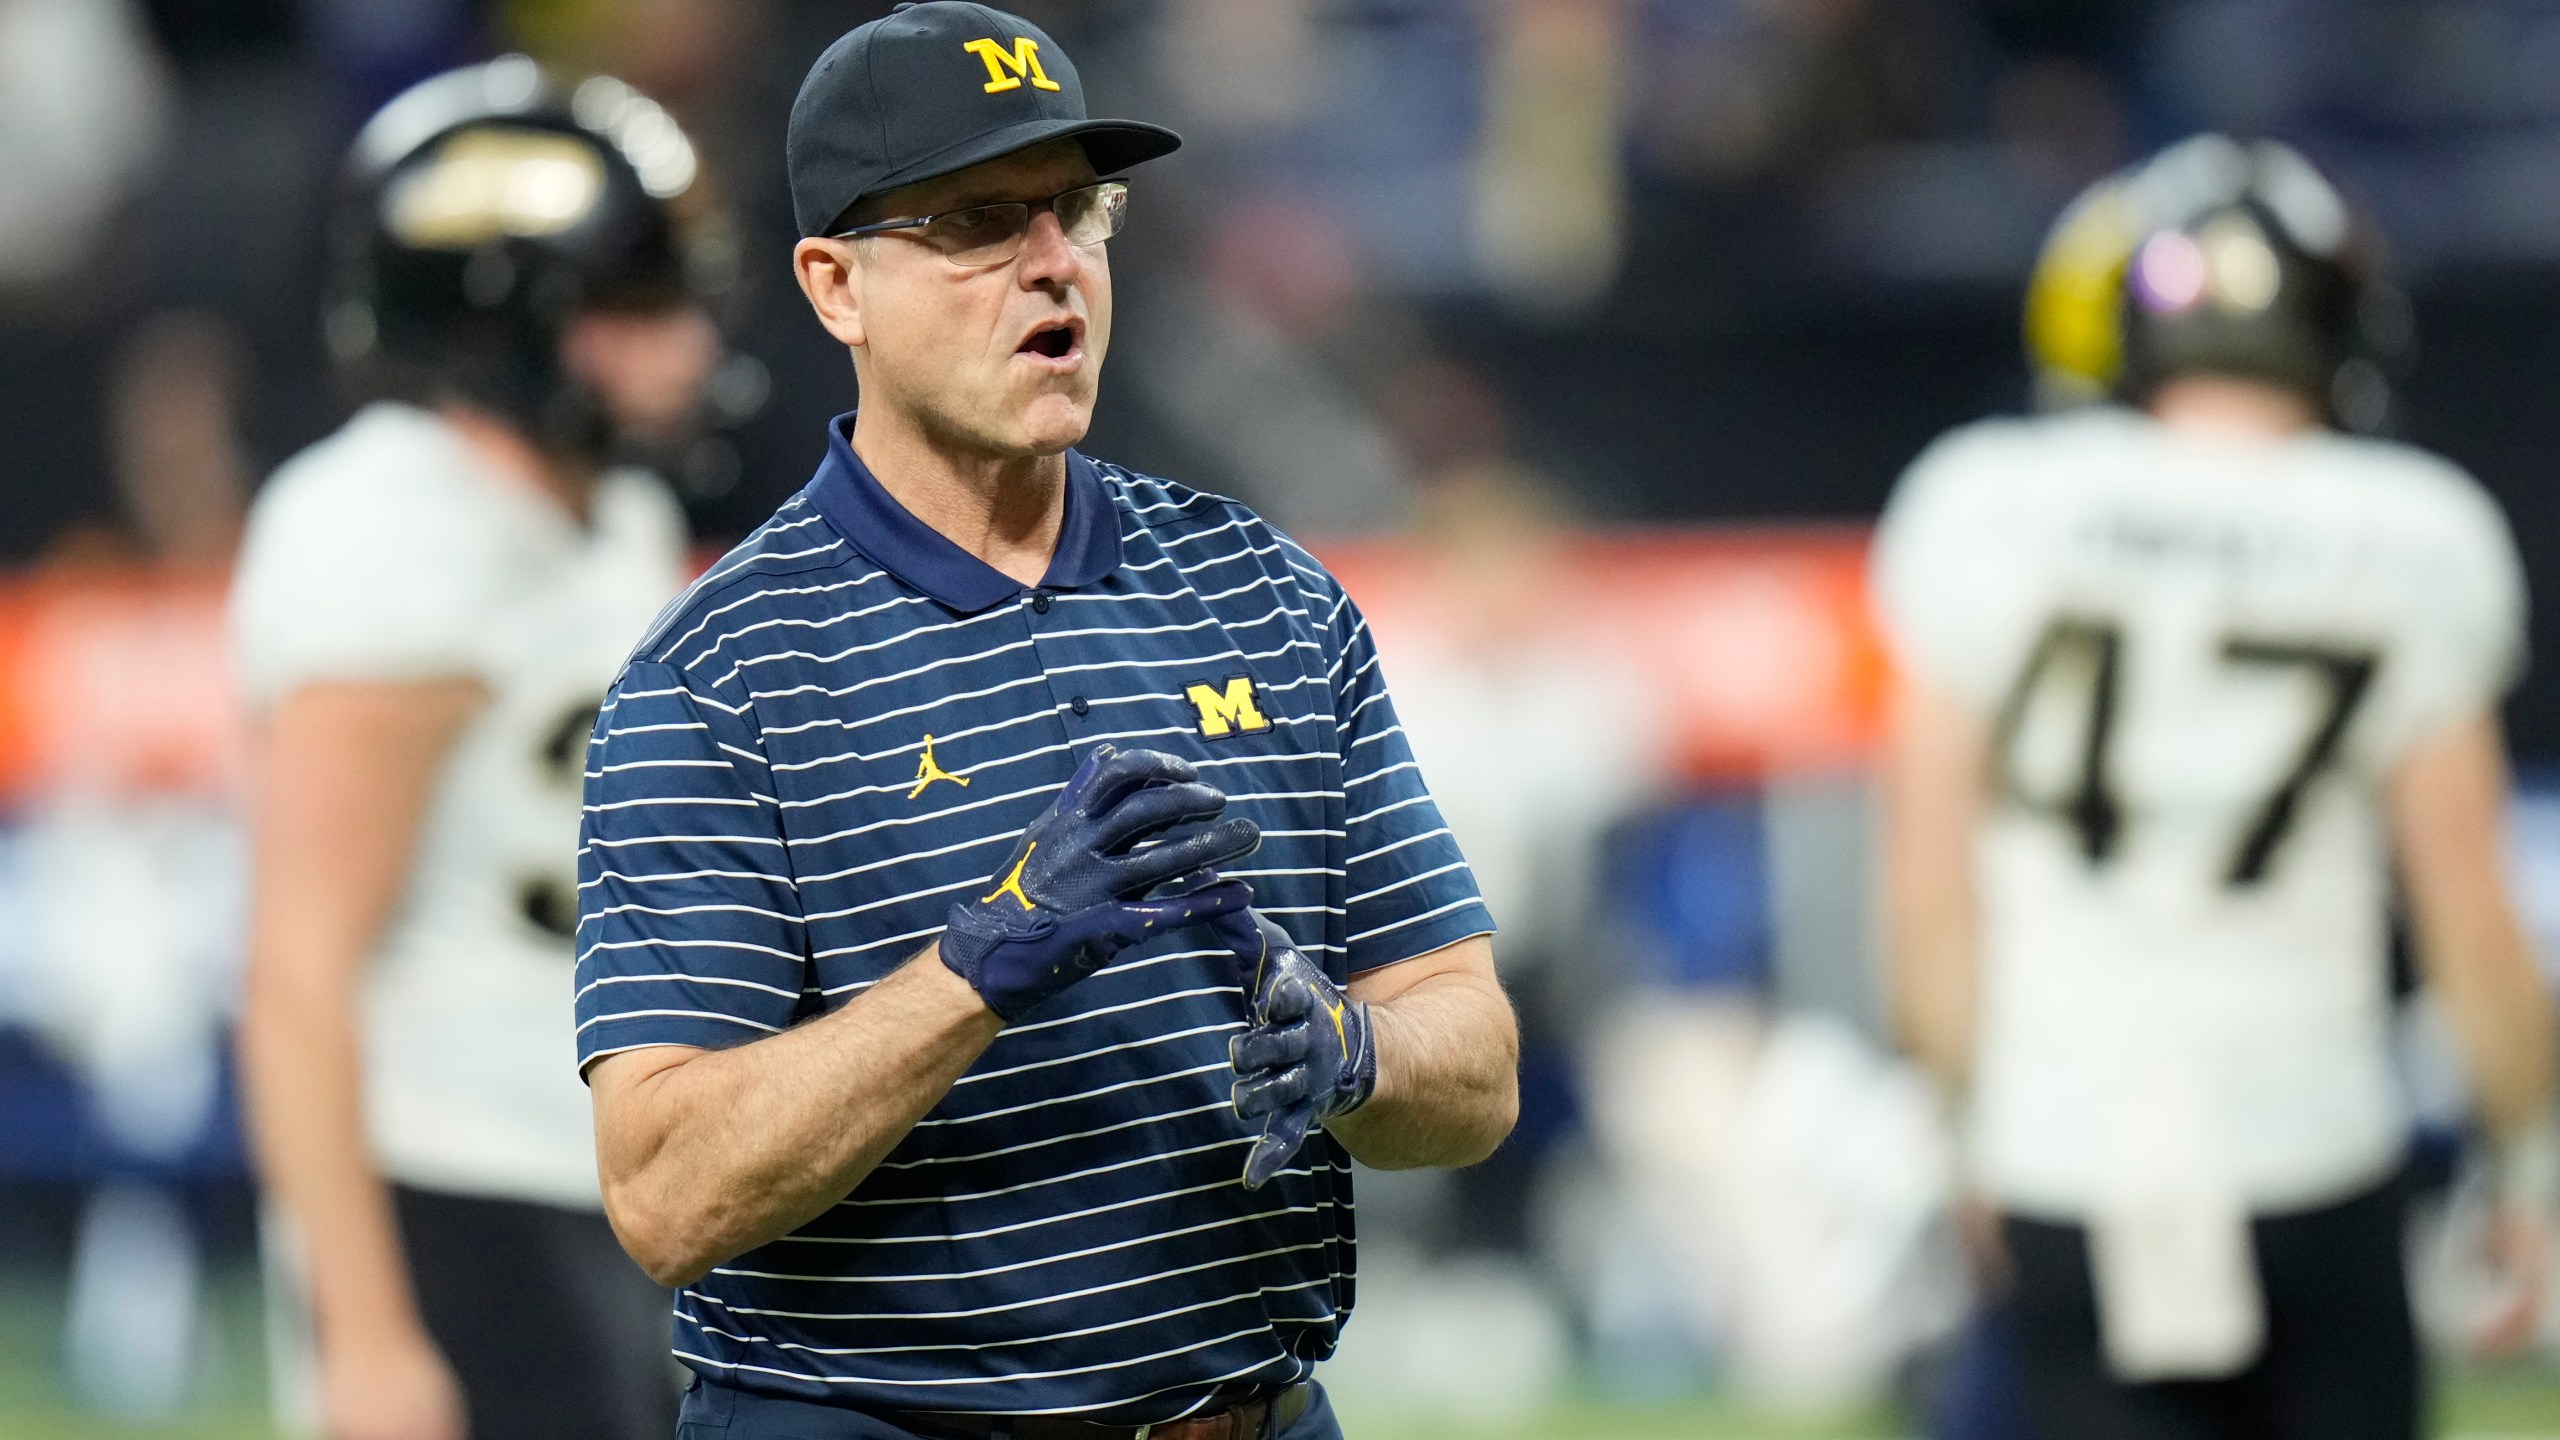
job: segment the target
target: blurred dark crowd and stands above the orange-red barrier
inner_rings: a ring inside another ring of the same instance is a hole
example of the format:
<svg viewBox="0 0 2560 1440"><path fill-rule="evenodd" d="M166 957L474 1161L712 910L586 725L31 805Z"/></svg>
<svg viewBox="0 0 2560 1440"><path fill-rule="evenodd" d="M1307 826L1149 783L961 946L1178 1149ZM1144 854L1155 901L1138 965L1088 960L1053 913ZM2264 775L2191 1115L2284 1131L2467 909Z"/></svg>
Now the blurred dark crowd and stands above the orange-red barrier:
<svg viewBox="0 0 2560 1440"><path fill-rule="evenodd" d="M102 530L141 543L141 502L120 500L146 454L118 441L128 425L228 415L228 443L189 451L207 469L236 454L220 464L246 479L328 430L312 307L333 159L404 82L497 49L625 74L701 141L737 223L740 361L722 384L732 433L686 484L707 533L742 530L799 484L812 420L842 405L840 359L773 259L791 236L776 136L801 59L876 10L13 0L0 418L18 502L0 553L97 553ZM1413 515L1444 456L1393 397L1446 364L1487 384L1577 507L1866 515L1946 418L2017 397L2015 279L2061 202L2199 128L2307 143L2363 195L2427 310L2419 395L2478 454L2522 443L2473 387L2537 377L2516 374L2529 356L2491 359L2529 318L2491 300L2516 297L2514 266L2560 259L2560 31L2540 5L1029 13L1088 56L1096 92L1193 141L1147 177L1121 246L1142 343L1101 448L1311 533ZM166 313L200 338L154 341ZM2483 364L2506 372L2463 377ZM1257 402L1239 413L1236 395Z"/></svg>

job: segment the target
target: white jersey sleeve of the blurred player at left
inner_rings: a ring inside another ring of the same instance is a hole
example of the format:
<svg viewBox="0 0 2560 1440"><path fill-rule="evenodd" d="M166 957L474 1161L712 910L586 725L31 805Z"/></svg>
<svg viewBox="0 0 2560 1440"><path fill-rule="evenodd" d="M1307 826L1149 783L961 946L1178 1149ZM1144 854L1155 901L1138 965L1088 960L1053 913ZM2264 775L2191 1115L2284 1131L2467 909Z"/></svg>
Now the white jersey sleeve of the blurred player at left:
<svg viewBox="0 0 2560 1440"><path fill-rule="evenodd" d="M233 574L243 692L269 705L315 682L479 674L502 571L502 536L463 495L402 474L279 474Z"/></svg>

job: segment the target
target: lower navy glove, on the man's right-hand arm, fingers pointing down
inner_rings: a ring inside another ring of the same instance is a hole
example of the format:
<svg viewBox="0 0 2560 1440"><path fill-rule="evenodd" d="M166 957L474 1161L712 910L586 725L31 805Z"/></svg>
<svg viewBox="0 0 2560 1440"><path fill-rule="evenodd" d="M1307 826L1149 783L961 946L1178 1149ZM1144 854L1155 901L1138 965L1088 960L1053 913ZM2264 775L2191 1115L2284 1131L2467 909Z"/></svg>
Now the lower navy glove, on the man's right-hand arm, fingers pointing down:
<svg viewBox="0 0 2560 1440"><path fill-rule="evenodd" d="M1226 1061L1236 1068L1236 1115L1262 1120L1262 1138L1244 1156L1244 1189L1262 1189L1308 1130L1367 1104L1377 1089L1377 1038L1370 1007L1341 994L1288 930L1236 910L1216 920L1216 933L1236 953L1252 1010L1252 1025L1226 1043Z"/></svg>

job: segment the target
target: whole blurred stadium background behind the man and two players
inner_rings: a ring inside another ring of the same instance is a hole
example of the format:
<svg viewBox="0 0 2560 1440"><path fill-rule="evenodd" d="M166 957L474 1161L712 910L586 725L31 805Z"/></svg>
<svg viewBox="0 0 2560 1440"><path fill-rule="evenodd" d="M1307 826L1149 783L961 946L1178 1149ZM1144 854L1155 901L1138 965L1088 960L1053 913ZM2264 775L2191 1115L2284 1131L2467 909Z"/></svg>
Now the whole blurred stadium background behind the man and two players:
<svg viewBox="0 0 2560 1440"><path fill-rule="evenodd" d="M0 1437L266 1435L218 605L246 495L343 413L335 151L502 49L671 105L735 225L724 423L678 477L717 546L850 397L781 264L781 123L881 8L0 0ZM1892 1435L1946 1402L1946 1153L1864 912L1864 525L1933 433L2022 405L2025 269L2107 169L2271 133L2371 205L2419 336L2396 428L2516 525L2514 740L2560 774L2560 8L1014 8L1190 138L1114 243L1088 448L1341 569L1505 920L1523 1125L1364 1181L1354 1432ZM2560 958L2560 789L2516 833ZM2458 1109L2422 1043L2412 1076ZM2455 1184L2422 1248L2463 1215ZM2560 1432L2547 1355L2465 1373L2452 1427Z"/></svg>

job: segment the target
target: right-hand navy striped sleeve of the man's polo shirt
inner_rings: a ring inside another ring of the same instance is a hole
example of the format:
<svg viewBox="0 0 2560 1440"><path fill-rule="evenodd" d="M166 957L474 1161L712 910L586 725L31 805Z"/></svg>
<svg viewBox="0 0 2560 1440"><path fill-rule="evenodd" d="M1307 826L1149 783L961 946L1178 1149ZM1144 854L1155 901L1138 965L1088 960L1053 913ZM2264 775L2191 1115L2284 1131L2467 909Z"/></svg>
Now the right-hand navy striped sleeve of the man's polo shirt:
<svg viewBox="0 0 2560 1440"><path fill-rule="evenodd" d="M1349 974L1490 935L1492 912L1413 764L1367 618L1339 594L1326 628L1341 725Z"/></svg>

